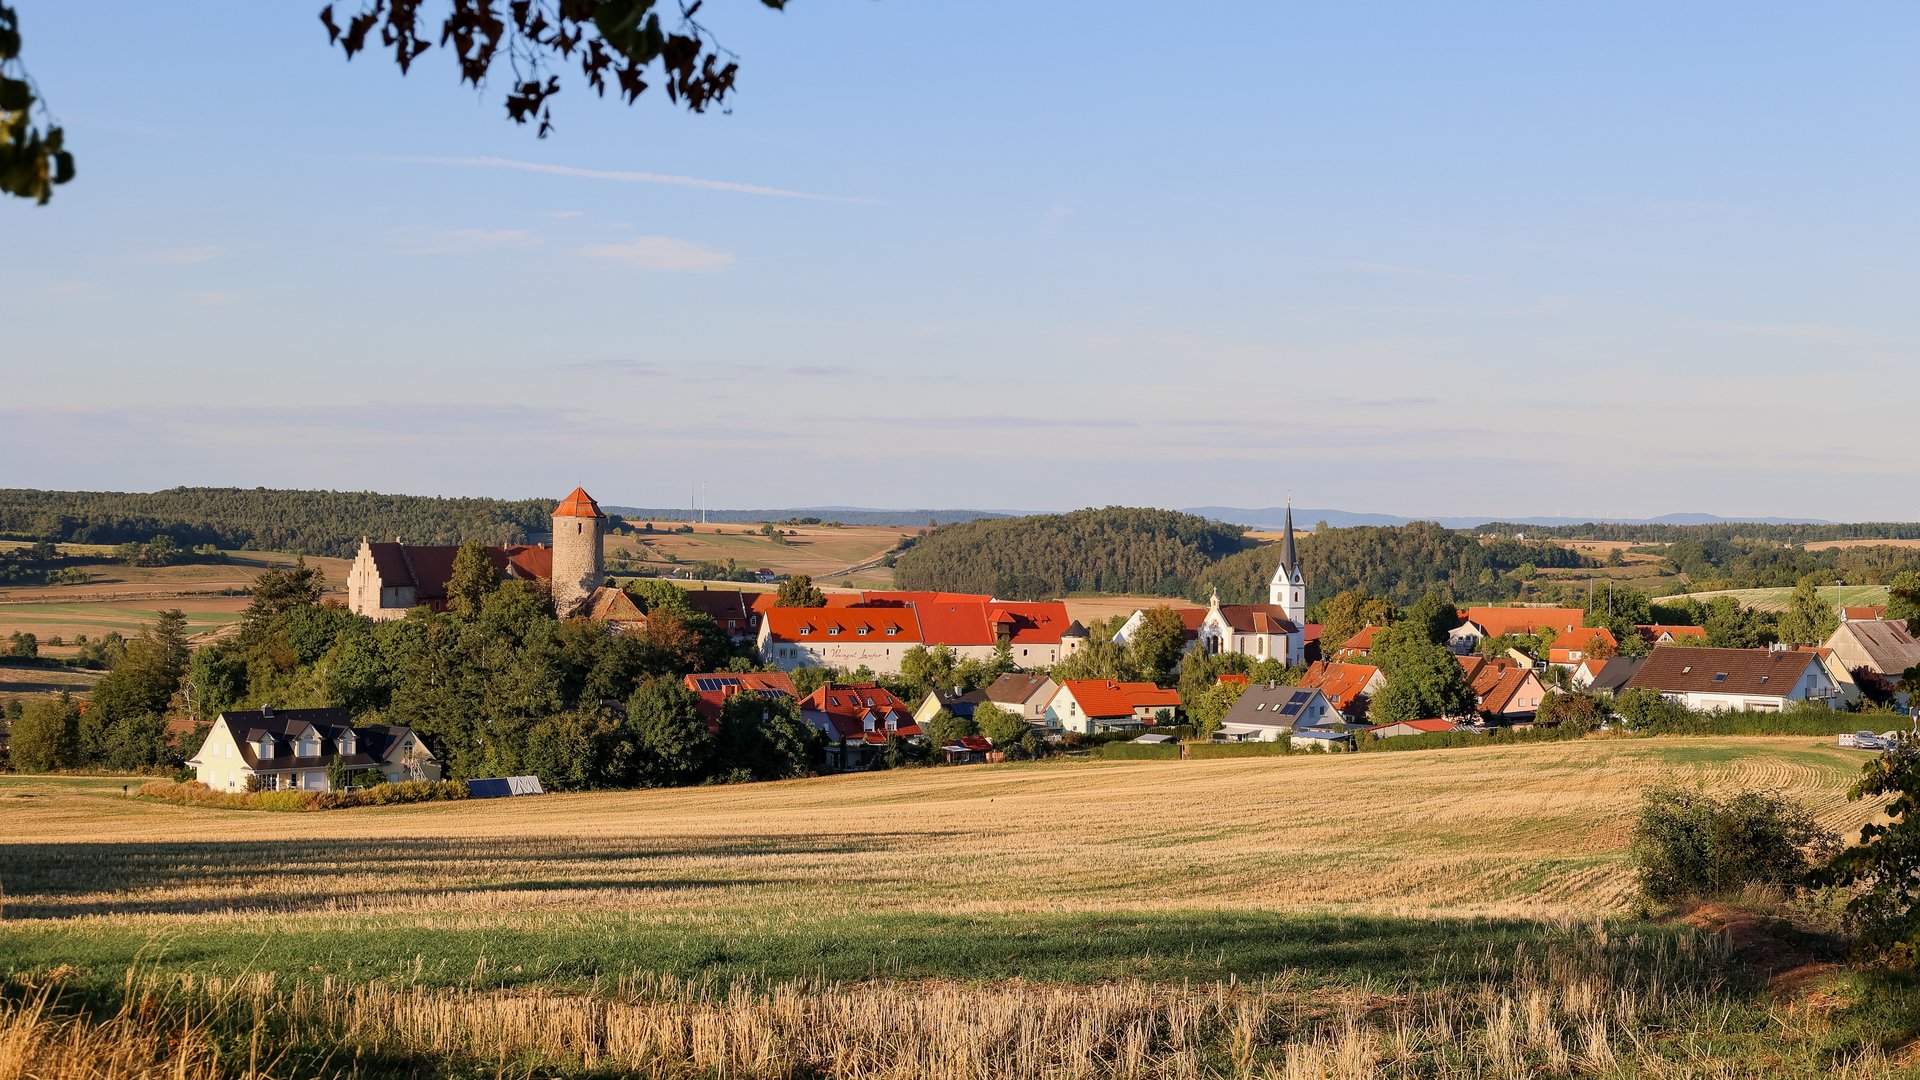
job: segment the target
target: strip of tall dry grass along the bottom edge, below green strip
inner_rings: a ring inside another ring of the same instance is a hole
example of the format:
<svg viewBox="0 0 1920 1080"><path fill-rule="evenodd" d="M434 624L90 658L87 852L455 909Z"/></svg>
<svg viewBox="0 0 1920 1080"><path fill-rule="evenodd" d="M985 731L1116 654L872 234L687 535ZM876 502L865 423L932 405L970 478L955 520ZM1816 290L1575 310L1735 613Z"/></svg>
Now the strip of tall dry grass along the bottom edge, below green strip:
<svg viewBox="0 0 1920 1080"><path fill-rule="evenodd" d="M1438 992L1327 992L1292 978L720 986L643 976L582 995L129 976L123 1005L98 1024L52 1019L44 990L0 1005L0 1080L380 1076L424 1063L459 1074L465 1063L505 1076L660 1080L1897 1074L1874 1049L1803 1057L1830 1030L1822 1009L1741 1017L1741 1026L1766 1024L1764 1038L1741 1032L1747 1057L1726 1057L1728 1005L1701 978L1726 963L1722 953L1713 938L1649 947L1592 926L1544 957L1488 955L1486 978ZM324 1055L321 1068L313 1053Z"/></svg>

